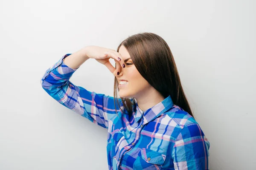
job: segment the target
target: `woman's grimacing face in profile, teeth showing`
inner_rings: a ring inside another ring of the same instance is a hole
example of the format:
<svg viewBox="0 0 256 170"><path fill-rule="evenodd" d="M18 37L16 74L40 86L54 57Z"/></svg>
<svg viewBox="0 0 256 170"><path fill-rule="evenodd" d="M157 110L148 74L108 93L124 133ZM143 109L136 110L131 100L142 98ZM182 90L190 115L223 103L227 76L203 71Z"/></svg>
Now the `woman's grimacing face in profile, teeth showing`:
<svg viewBox="0 0 256 170"><path fill-rule="evenodd" d="M123 45L119 48L119 53L124 61L128 59L125 62L125 68L121 67L120 74L116 76L119 82L119 96L127 98L137 98L138 96L143 96L143 94L149 91L152 86L141 76L131 60L128 51ZM126 80L124 82L128 83L122 84L123 81L121 80Z"/></svg>

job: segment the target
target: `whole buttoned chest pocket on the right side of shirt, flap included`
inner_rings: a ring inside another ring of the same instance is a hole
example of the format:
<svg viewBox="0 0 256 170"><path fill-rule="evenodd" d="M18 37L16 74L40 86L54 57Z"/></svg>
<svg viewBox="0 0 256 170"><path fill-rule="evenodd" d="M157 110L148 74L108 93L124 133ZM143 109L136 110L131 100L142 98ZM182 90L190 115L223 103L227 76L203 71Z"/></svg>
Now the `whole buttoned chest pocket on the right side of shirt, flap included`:
<svg viewBox="0 0 256 170"><path fill-rule="evenodd" d="M154 150L142 148L134 161L134 170L160 170L166 155Z"/></svg>

